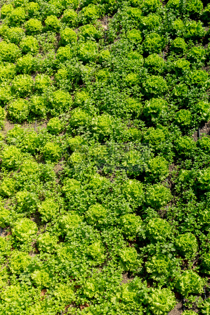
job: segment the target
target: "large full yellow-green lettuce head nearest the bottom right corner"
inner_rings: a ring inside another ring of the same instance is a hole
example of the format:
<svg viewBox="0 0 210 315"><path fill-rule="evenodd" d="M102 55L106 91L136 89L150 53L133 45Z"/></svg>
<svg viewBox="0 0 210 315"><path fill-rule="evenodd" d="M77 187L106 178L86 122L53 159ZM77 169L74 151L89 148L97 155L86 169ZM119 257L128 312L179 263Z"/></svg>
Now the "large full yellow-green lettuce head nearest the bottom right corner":
<svg viewBox="0 0 210 315"><path fill-rule="evenodd" d="M174 283L178 291L186 297L192 293L202 293L204 284L205 280L193 270L185 270Z"/></svg>

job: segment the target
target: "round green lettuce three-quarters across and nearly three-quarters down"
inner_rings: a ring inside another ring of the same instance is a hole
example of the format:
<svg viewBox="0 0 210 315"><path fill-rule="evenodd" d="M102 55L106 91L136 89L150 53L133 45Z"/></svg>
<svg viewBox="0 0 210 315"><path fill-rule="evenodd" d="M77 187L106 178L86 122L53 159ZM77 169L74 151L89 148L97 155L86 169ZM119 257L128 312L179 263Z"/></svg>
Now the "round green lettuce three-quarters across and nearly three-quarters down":
<svg viewBox="0 0 210 315"><path fill-rule="evenodd" d="M171 226L164 219L159 217L152 218L146 226L146 235L152 242L163 242L167 238L171 237Z"/></svg>

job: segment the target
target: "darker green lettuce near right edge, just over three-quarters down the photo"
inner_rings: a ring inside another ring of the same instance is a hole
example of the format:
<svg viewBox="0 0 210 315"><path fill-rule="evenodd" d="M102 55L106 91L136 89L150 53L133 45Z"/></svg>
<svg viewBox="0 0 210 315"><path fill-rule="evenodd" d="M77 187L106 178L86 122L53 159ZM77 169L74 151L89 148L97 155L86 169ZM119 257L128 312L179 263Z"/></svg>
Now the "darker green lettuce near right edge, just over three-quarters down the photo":
<svg viewBox="0 0 210 315"><path fill-rule="evenodd" d="M180 254L186 256L187 258L192 258L197 253L197 240L195 235L190 232L179 235L175 240L175 244Z"/></svg>

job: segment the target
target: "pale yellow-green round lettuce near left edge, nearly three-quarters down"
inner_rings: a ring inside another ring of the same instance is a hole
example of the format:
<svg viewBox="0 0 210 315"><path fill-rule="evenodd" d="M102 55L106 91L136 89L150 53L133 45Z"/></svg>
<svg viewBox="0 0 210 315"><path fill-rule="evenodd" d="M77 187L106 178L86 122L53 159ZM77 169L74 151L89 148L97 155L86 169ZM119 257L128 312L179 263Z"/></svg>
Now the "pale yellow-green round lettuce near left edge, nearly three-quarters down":
<svg viewBox="0 0 210 315"><path fill-rule="evenodd" d="M18 219L12 229L12 234L20 241L25 242L37 235L37 225L28 218Z"/></svg>

